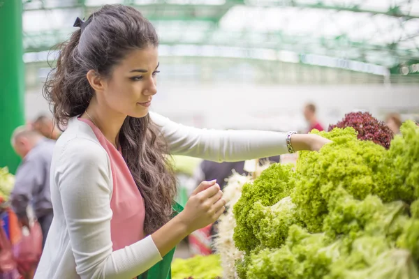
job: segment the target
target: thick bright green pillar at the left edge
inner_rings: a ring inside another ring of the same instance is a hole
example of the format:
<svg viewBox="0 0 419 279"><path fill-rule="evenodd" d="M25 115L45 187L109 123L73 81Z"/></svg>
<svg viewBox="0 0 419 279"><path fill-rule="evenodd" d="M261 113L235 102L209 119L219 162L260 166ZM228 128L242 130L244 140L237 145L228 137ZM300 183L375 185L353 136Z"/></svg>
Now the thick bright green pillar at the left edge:
<svg viewBox="0 0 419 279"><path fill-rule="evenodd" d="M22 1L0 0L0 167L15 173L20 158L10 145L24 124Z"/></svg>

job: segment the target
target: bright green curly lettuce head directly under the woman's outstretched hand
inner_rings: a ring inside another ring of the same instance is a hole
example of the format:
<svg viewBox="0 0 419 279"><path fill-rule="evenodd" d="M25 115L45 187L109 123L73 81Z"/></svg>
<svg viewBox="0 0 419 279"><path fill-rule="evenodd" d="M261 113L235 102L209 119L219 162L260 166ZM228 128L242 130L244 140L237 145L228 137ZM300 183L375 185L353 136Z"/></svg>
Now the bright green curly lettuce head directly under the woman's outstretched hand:
<svg viewBox="0 0 419 279"><path fill-rule="evenodd" d="M297 182L291 194L297 211L310 232L321 232L333 192L344 188L356 199L377 193L394 200L388 193L390 174L379 172L385 149L374 142L357 140L353 128L318 132L333 141L320 152L303 151L297 161Z"/></svg>

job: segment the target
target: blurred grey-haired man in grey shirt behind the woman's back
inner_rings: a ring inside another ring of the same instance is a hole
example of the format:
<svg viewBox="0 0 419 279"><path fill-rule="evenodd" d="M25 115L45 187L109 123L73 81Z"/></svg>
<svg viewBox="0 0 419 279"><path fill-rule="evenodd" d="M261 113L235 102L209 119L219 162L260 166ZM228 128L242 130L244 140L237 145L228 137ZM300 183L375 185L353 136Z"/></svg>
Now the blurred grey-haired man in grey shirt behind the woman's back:
<svg viewBox="0 0 419 279"><path fill-rule="evenodd" d="M27 207L31 204L41 225L44 246L53 217L50 166L55 141L47 139L29 126L20 126L13 132L11 144L22 158L16 170L15 187L10 195L11 206L21 225L29 228Z"/></svg>

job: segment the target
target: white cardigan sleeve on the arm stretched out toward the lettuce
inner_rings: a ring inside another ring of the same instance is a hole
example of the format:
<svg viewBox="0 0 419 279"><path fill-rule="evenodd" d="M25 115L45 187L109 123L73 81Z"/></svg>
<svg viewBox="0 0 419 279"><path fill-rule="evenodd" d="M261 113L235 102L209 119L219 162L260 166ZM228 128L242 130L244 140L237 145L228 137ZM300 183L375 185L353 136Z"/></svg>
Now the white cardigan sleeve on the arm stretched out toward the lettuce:
<svg viewBox="0 0 419 279"><path fill-rule="evenodd" d="M168 142L170 153L216 162L237 162L288 153L286 133L260 130L207 130L170 121L154 112L150 118Z"/></svg>

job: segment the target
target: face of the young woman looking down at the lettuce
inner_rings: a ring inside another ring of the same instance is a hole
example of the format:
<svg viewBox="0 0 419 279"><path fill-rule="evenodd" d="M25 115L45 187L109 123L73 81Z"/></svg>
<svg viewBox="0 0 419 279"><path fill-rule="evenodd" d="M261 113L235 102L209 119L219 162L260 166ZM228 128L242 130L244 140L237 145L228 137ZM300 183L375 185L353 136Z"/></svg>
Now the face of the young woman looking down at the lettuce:
<svg viewBox="0 0 419 279"><path fill-rule="evenodd" d="M125 116L146 116L157 93L158 67L157 47L133 50L115 66L112 76L103 82L103 92L96 94L98 103Z"/></svg>

